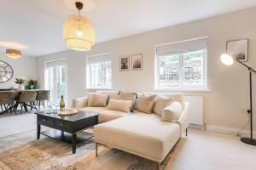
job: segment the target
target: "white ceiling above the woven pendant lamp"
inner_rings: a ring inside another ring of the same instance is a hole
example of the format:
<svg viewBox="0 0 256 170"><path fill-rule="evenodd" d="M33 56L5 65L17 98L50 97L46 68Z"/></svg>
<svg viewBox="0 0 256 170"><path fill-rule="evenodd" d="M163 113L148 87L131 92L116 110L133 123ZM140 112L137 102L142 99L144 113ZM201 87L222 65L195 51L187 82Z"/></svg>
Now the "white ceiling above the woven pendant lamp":
<svg viewBox="0 0 256 170"><path fill-rule="evenodd" d="M0 41L27 46L26 56L66 50L62 25L76 14L67 1L0 0ZM96 28L96 42L127 37L256 5L256 0L90 0L95 8L83 15ZM65 3L66 2L66 3ZM5 48L0 47L0 52Z"/></svg>

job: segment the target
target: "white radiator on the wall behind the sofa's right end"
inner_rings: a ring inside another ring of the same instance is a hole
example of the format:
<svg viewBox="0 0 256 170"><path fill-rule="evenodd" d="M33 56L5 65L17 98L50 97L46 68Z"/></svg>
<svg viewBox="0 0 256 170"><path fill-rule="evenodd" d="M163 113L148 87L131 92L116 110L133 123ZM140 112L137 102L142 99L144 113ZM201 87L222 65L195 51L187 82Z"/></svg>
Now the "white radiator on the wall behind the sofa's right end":
<svg viewBox="0 0 256 170"><path fill-rule="evenodd" d="M189 102L189 123L204 125L203 96L184 96L184 101Z"/></svg>

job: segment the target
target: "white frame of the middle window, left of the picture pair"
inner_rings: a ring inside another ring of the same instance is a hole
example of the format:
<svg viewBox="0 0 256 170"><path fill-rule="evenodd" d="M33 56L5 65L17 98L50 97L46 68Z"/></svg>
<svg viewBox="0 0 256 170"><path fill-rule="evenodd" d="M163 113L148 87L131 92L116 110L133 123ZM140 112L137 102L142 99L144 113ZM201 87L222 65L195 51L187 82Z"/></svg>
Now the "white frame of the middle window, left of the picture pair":
<svg viewBox="0 0 256 170"><path fill-rule="evenodd" d="M100 57L102 55L112 55L112 53L89 55L86 57L85 89L88 89L88 90L111 90L111 89L113 89L113 56L111 56L111 59L110 59L110 62L111 62L111 87L110 88L92 88L92 87L90 87L90 64L88 63L88 59L93 58L93 57Z"/></svg>

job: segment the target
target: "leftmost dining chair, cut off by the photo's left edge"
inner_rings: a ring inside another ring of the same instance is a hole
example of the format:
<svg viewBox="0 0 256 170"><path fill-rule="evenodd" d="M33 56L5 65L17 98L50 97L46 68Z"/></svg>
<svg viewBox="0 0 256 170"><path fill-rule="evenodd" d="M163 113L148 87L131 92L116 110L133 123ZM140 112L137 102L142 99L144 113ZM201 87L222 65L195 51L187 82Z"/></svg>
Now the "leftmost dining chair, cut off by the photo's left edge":
<svg viewBox="0 0 256 170"><path fill-rule="evenodd" d="M15 105L15 93L11 91L0 92L0 106L2 115L5 112L12 112Z"/></svg>

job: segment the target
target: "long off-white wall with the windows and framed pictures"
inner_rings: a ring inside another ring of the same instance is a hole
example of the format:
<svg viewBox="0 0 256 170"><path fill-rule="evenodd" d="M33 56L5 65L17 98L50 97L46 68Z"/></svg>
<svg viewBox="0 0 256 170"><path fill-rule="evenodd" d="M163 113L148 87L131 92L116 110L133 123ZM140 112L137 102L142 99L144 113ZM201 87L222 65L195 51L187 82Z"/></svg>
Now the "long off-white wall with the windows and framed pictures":
<svg viewBox="0 0 256 170"><path fill-rule="evenodd" d="M248 77L241 65L222 65L219 56L225 52L226 41L249 38L248 65L256 68L256 8L219 15L206 20L171 26L131 37L96 44L89 53L65 51L38 58L38 78L44 84L44 62L67 58L68 99L83 96L85 90L85 57L113 53L113 88L131 91L154 91L154 45L195 37L208 37L208 83L211 92L186 93L204 96L204 118L208 124L242 127L247 122ZM175 16L173 16L175 17ZM119 56L143 54L142 71L119 71ZM256 75L253 77L254 87ZM256 87L255 87L256 90ZM256 95L253 92L253 106ZM256 124L256 117L253 120ZM256 127L254 127L256 129Z"/></svg>

